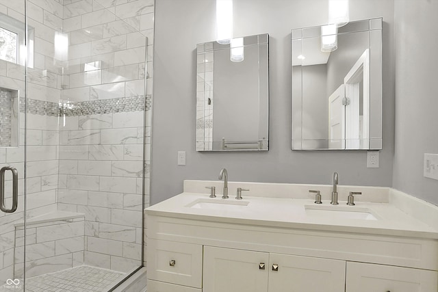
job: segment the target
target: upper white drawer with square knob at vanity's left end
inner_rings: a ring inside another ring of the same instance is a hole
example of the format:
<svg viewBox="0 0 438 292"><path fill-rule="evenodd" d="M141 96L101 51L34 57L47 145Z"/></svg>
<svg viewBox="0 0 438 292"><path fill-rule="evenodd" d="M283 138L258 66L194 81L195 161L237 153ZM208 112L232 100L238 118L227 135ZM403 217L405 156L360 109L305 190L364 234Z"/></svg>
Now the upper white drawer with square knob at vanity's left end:
<svg viewBox="0 0 438 292"><path fill-rule="evenodd" d="M203 245L149 239L147 267L149 279L202 288Z"/></svg>

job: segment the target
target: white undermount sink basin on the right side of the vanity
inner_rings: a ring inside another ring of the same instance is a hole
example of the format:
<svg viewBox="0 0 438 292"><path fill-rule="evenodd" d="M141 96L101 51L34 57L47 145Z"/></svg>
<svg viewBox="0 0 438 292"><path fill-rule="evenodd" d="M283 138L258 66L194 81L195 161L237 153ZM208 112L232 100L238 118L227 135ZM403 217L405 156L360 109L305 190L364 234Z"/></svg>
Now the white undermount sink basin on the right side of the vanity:
<svg viewBox="0 0 438 292"><path fill-rule="evenodd" d="M306 215L312 217L377 220L377 217L367 208L306 205L305 210Z"/></svg>

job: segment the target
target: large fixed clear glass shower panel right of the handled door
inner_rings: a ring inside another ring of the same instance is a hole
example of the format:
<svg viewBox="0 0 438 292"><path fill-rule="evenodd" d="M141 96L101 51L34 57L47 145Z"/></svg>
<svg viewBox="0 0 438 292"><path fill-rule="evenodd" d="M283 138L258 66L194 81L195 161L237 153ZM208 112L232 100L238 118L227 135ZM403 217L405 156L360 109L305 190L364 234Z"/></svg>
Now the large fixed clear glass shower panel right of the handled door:
<svg viewBox="0 0 438 292"><path fill-rule="evenodd" d="M27 291L109 291L142 266L152 10L123 2L27 1Z"/></svg>

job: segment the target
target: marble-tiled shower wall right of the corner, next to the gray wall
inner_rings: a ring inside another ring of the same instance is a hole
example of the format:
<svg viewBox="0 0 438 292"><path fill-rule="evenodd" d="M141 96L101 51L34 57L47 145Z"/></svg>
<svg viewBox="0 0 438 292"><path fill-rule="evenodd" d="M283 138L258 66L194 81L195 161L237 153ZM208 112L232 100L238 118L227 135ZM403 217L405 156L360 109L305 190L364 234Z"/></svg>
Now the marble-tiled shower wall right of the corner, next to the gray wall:
<svg viewBox="0 0 438 292"><path fill-rule="evenodd" d="M124 272L141 265L143 184L149 206L153 4L64 0L61 94L78 107L60 128L58 209L85 213L87 265Z"/></svg>

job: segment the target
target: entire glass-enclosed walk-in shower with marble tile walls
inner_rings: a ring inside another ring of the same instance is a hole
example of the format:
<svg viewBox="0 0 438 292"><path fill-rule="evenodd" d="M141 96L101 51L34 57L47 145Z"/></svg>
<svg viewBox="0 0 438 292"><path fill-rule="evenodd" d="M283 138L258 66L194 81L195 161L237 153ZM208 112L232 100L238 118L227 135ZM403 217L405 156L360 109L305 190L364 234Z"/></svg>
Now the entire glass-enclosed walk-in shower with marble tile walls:
<svg viewBox="0 0 438 292"><path fill-rule="evenodd" d="M153 0L0 0L0 291L142 267L152 41Z"/></svg>

